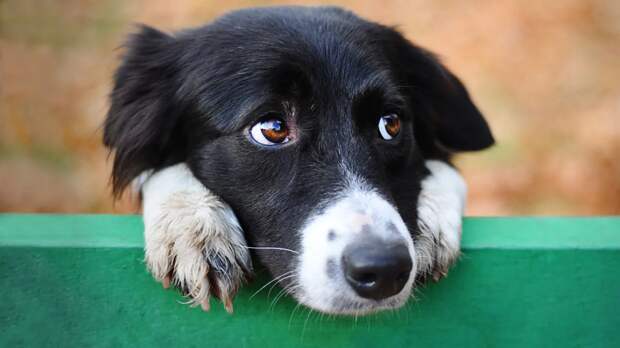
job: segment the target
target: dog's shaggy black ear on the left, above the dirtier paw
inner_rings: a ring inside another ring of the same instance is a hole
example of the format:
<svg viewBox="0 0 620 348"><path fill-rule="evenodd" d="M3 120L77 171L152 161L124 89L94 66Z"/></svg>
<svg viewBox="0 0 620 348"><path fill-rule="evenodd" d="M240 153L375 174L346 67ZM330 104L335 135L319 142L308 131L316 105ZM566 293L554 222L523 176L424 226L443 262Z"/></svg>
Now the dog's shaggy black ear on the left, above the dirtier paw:
<svg viewBox="0 0 620 348"><path fill-rule="evenodd" d="M147 26L126 42L103 135L114 151L116 196L141 172L161 165L170 151L180 110L175 102L175 42Z"/></svg>

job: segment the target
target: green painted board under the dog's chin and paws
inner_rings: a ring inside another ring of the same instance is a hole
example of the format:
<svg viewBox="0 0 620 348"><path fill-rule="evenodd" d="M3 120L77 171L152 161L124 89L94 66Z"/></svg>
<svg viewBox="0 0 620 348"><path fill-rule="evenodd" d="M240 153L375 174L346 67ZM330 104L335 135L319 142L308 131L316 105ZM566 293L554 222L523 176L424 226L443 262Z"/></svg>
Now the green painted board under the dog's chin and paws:
<svg viewBox="0 0 620 348"><path fill-rule="evenodd" d="M620 347L618 217L466 219L447 279L357 320L276 301L278 288L251 297L261 281L234 315L190 308L146 272L141 229L0 215L0 346Z"/></svg>

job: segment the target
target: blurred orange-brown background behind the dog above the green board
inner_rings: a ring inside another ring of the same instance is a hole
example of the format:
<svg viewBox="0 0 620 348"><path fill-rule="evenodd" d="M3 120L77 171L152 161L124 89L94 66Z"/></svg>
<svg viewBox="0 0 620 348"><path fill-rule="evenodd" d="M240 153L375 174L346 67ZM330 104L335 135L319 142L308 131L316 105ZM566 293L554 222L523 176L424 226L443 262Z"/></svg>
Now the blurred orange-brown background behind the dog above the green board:
<svg viewBox="0 0 620 348"><path fill-rule="evenodd" d="M397 25L462 78L498 140L457 159L468 214L620 214L618 0L0 0L0 211L136 211L101 145L125 35L275 4Z"/></svg>

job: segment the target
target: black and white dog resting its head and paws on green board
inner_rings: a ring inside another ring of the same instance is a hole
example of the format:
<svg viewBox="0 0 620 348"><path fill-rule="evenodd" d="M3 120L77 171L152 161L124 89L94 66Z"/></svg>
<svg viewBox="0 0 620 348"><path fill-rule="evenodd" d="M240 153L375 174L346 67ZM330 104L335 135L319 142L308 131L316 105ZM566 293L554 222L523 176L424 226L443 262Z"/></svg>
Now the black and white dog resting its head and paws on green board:
<svg viewBox="0 0 620 348"><path fill-rule="evenodd" d="M334 7L131 35L104 124L116 196L141 190L145 262L209 309L263 265L301 304L402 306L459 255L453 154L494 143L459 79Z"/></svg>

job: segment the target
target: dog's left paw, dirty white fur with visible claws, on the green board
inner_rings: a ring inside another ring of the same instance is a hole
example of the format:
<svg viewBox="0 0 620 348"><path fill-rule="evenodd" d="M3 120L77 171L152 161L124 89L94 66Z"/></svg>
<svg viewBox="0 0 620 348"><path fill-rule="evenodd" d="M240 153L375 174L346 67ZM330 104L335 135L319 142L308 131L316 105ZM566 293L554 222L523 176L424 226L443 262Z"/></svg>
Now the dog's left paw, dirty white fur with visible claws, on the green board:
<svg viewBox="0 0 620 348"><path fill-rule="evenodd" d="M142 187L145 261L153 276L164 287L172 282L204 310L214 295L232 312L232 298L252 270L232 209L185 164L143 174L137 181Z"/></svg>

